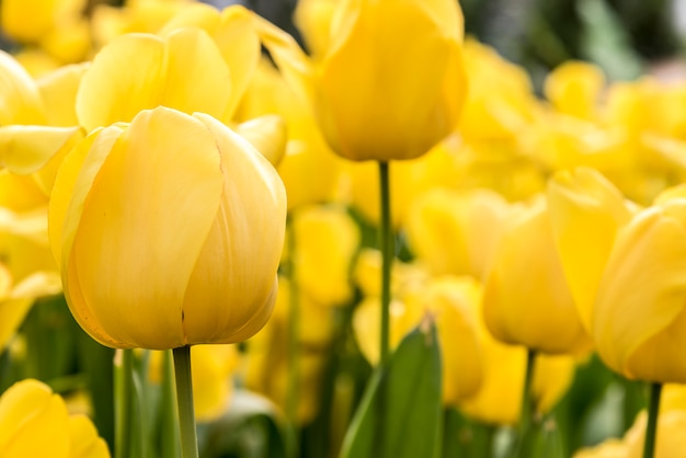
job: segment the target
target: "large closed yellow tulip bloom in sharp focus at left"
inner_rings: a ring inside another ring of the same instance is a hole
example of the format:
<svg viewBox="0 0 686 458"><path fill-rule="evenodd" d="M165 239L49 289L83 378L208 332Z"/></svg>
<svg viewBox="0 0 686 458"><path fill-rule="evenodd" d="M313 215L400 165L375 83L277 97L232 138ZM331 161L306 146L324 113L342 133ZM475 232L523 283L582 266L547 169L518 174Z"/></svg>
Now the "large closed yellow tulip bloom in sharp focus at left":
<svg viewBox="0 0 686 458"><path fill-rule="evenodd" d="M79 324L107 346L164 350L264 325L285 219L283 184L247 140L158 107L67 156L49 232Z"/></svg>

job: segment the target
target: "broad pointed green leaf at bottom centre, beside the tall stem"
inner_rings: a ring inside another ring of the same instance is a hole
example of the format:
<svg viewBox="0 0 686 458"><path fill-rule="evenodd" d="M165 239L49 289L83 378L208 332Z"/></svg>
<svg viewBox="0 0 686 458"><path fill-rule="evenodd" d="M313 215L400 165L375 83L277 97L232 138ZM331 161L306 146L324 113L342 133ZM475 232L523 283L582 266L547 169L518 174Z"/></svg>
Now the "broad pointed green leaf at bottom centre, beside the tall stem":
<svg viewBox="0 0 686 458"><path fill-rule="evenodd" d="M434 324L426 324L405 335L388 365L375 370L341 458L441 455L441 350Z"/></svg>

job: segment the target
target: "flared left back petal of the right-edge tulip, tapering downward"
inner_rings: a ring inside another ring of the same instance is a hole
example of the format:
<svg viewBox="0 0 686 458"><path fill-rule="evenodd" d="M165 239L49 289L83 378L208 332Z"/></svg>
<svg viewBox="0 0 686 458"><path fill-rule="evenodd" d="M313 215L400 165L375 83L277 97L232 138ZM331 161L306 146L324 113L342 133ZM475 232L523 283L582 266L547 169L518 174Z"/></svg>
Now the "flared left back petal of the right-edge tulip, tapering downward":
<svg viewBox="0 0 686 458"><path fill-rule="evenodd" d="M621 193L599 172L587 168L558 172L548 183L548 206L562 270L591 333L598 283L618 230L631 219Z"/></svg>

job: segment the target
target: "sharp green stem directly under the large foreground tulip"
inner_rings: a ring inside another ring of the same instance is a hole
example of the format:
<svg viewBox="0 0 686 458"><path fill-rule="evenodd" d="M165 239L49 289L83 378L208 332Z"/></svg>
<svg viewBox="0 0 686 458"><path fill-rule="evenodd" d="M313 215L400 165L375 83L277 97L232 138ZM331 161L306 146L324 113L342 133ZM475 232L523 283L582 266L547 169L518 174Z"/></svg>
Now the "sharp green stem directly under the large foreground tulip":
<svg viewBox="0 0 686 458"><path fill-rule="evenodd" d="M191 377L191 346L184 345L174 348L173 356L179 425L181 426L181 456L183 458L198 458L195 410L193 408L193 379Z"/></svg>

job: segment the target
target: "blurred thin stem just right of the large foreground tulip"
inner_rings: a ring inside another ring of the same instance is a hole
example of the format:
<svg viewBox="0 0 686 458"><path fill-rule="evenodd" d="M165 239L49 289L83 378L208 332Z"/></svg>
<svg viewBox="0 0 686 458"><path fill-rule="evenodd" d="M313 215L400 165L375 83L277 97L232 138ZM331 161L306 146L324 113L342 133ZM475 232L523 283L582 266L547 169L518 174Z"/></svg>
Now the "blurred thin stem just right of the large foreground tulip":
<svg viewBox="0 0 686 458"><path fill-rule="evenodd" d="M297 454L297 424L298 424L298 386L300 383L299 373L299 336L300 336L300 295L298 280L296 278L296 233L293 220L290 230L288 231L288 272L290 275L290 289L288 294L288 386L286 392L286 417L288 419L294 432L295 447L294 454Z"/></svg>

